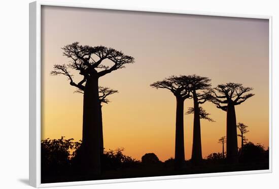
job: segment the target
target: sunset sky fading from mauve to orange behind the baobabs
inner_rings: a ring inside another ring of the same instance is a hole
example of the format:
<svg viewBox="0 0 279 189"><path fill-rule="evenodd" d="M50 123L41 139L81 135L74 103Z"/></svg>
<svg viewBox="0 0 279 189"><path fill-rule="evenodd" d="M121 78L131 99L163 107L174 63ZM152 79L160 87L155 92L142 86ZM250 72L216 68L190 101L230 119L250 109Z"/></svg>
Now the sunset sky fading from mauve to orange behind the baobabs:
<svg viewBox="0 0 279 189"><path fill-rule="evenodd" d="M212 85L238 82L256 95L236 106L237 122L249 126L249 141L268 145L268 20L146 13L85 8L42 8L42 139L82 137L80 93L63 76L50 76L54 64L67 64L61 47L75 41L122 50L135 63L100 78L119 90L104 105L104 147L124 147L140 160L154 152L174 157L176 100L150 84L170 75L197 74ZM73 71L75 81L81 78ZM185 111L192 107L186 100ZM216 122L201 120L202 156L221 152L226 112L207 102ZM184 117L185 155L192 150L193 115ZM240 139L238 140L240 146Z"/></svg>

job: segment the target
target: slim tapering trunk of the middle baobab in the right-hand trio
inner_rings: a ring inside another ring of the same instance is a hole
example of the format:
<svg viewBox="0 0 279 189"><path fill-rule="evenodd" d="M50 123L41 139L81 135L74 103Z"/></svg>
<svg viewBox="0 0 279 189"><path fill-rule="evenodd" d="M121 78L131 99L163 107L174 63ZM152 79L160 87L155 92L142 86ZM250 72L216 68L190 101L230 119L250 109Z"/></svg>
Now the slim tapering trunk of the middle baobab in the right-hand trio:
<svg viewBox="0 0 279 189"><path fill-rule="evenodd" d="M193 92L194 99L194 128L193 128L193 146L192 146L192 161L200 163L202 161L201 153L201 135L200 135L200 118L199 104L195 91Z"/></svg>

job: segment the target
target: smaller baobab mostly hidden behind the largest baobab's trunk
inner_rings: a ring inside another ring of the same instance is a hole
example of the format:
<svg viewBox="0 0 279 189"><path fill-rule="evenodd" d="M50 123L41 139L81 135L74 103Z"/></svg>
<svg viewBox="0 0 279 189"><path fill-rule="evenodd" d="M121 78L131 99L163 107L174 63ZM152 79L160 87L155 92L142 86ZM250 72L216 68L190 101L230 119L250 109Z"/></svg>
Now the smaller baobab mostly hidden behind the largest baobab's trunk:
<svg viewBox="0 0 279 189"><path fill-rule="evenodd" d="M84 93L83 90L78 89L75 92ZM108 96L117 93L118 90L111 89L109 87L99 86L99 103L100 103L100 154L103 154L103 127L102 127L102 104L108 104L110 100Z"/></svg>

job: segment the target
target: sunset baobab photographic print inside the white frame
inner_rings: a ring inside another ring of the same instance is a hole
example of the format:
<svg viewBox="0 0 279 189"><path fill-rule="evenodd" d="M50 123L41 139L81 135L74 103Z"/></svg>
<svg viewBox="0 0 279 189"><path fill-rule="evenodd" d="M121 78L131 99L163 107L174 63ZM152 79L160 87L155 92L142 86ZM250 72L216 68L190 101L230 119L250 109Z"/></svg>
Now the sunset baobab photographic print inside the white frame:
<svg viewBox="0 0 279 189"><path fill-rule="evenodd" d="M41 183L269 169L269 20L41 7Z"/></svg>

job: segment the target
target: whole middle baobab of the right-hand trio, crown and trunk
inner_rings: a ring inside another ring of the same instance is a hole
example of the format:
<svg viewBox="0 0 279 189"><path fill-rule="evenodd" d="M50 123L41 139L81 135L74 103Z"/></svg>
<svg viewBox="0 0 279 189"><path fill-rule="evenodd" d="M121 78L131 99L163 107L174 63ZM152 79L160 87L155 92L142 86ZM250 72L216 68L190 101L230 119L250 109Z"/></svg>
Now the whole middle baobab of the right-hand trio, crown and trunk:
<svg viewBox="0 0 279 189"><path fill-rule="evenodd" d="M195 163L202 161L201 151L201 134L200 134L200 109L199 105L205 103L208 100L208 94L211 89L211 79L207 77L201 77L197 75L191 75L190 78L190 91L193 96L194 102L194 125L193 125L193 146L192 146L192 158ZM205 113L205 112L201 112Z"/></svg>

